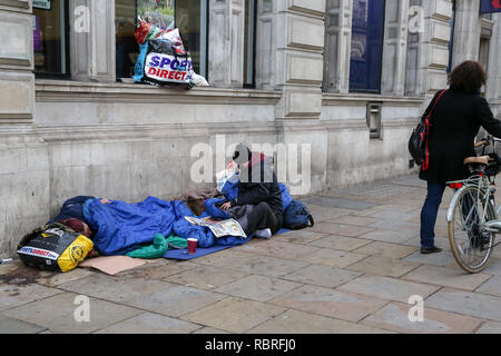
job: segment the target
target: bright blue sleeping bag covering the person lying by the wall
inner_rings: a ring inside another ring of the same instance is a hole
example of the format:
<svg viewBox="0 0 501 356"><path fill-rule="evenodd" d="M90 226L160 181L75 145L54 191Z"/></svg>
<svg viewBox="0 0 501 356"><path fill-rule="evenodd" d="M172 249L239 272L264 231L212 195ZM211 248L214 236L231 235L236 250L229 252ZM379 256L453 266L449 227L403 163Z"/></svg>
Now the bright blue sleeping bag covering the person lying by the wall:
<svg viewBox="0 0 501 356"><path fill-rule="evenodd" d="M176 221L173 204L155 197L137 204L89 199L82 212L97 231L92 237L96 248L107 256L125 255L141 244L151 244L156 234L169 236Z"/></svg>

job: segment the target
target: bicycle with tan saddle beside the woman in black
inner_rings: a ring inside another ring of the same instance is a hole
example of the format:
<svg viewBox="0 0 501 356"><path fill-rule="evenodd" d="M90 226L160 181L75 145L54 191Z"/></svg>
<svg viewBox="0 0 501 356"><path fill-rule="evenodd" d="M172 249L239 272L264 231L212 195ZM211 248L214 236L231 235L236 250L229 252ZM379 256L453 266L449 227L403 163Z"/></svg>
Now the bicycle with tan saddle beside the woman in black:
<svg viewBox="0 0 501 356"><path fill-rule="evenodd" d="M501 170L501 157L495 152L500 139L488 136L475 144L482 148L482 156L464 159L470 177L448 181L455 190L448 210L449 244L456 263L465 271L475 274L489 263L497 234L501 234L499 214L495 208L495 176ZM492 144L492 152L485 148Z"/></svg>

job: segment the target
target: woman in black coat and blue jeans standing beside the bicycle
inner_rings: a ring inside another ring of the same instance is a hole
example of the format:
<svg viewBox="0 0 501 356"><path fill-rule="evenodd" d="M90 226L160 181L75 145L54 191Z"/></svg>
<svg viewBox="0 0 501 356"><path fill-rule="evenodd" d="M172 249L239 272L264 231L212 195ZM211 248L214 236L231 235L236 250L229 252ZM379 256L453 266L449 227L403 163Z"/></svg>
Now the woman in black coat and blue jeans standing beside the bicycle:
<svg viewBox="0 0 501 356"><path fill-rule="evenodd" d="M477 156L473 144L480 127L501 138L501 122L480 96L487 81L482 66L477 61L465 61L452 71L450 81L450 89L438 92L423 116L433 110L429 167L420 171L420 178L428 181L428 195L421 210L422 254L442 250L434 245L434 227L445 182L468 178L463 161L466 157Z"/></svg>

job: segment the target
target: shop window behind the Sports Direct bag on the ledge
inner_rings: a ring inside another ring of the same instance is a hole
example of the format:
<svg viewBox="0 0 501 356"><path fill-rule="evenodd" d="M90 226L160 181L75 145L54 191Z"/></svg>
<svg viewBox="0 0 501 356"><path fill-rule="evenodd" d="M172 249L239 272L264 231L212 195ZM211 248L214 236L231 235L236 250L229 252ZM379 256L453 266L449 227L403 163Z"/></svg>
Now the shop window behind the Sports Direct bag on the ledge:
<svg viewBox="0 0 501 356"><path fill-rule="evenodd" d="M138 18L163 29L179 28L194 70L207 71L207 0L116 0L117 79L130 78L139 48L134 38Z"/></svg>

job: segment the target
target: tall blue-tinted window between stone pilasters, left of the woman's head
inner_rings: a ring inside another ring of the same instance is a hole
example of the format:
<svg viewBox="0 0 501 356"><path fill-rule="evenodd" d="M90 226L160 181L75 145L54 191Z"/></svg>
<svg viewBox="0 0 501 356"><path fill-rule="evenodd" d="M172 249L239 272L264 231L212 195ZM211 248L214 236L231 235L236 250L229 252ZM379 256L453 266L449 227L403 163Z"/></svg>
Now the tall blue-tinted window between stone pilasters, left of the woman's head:
<svg viewBox="0 0 501 356"><path fill-rule="evenodd" d="M381 92L384 0L353 1L350 91Z"/></svg>

